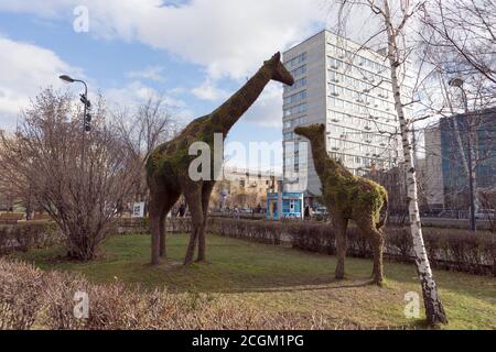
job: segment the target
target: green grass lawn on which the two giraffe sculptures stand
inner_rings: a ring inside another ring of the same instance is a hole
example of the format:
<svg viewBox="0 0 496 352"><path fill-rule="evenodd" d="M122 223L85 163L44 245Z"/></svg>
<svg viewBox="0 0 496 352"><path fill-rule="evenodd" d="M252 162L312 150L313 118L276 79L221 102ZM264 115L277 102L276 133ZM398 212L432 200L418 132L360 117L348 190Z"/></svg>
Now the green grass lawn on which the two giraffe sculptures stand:
<svg viewBox="0 0 496 352"><path fill-rule="evenodd" d="M84 273L97 283L116 279L172 292L227 296L239 307L315 315L363 328L423 328L423 317L407 319L405 294L420 285L413 265L385 262L384 287L368 285L373 263L347 258L346 279L334 280L335 257L292 249L208 237L208 263L183 267L185 235L168 237L169 260L151 267L150 238L110 238L100 258L87 263L57 260L62 249L14 254L43 270ZM496 329L496 279L462 273L435 272L450 329ZM423 306L421 306L423 312Z"/></svg>

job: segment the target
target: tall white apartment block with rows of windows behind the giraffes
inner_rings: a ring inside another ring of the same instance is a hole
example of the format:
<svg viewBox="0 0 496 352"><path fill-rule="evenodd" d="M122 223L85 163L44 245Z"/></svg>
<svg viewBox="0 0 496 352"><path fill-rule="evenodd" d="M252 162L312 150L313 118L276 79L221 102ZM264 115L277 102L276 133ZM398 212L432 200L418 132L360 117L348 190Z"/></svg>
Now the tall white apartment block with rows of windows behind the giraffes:
<svg viewBox="0 0 496 352"><path fill-rule="evenodd" d="M355 175L398 165L402 153L385 56L322 31L287 51L283 62L295 80L283 94L284 170L308 168L306 189L291 183L285 189L321 195L310 147L305 158L298 146L288 146L300 141L298 125L324 123L330 155Z"/></svg>

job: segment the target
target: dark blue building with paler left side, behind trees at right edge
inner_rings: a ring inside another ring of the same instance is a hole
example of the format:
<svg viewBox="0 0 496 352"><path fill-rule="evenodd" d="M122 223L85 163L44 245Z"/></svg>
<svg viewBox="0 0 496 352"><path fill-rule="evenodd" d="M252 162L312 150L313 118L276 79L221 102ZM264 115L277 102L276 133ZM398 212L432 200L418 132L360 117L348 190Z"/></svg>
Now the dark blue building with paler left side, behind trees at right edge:
<svg viewBox="0 0 496 352"><path fill-rule="evenodd" d="M477 191L496 189L496 109L443 118L425 132L428 201L467 209L467 155L471 139Z"/></svg>

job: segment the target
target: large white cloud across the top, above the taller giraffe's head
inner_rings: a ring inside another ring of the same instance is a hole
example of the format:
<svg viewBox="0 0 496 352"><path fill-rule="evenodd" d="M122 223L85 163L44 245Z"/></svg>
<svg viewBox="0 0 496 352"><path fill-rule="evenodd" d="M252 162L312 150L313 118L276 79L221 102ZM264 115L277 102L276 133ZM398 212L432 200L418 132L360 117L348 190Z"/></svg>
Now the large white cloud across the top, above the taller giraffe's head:
<svg viewBox="0 0 496 352"><path fill-rule="evenodd" d="M0 10L71 22L87 6L91 35L139 41L201 65L212 78L240 79L276 51L314 32L325 11L314 0L4 0Z"/></svg>

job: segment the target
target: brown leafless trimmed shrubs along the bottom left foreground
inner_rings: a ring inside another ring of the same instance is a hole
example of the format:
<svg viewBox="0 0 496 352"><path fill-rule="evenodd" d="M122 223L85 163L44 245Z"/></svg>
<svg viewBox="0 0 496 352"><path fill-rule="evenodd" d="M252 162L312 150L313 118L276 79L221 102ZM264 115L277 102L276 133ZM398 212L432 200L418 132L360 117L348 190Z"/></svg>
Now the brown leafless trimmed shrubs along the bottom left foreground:
<svg viewBox="0 0 496 352"><path fill-rule="evenodd" d="M74 316L76 292L89 299L86 319ZM358 329L322 315L277 314L205 294L95 285L82 275L42 272L0 258L0 329L53 330L283 330Z"/></svg>

